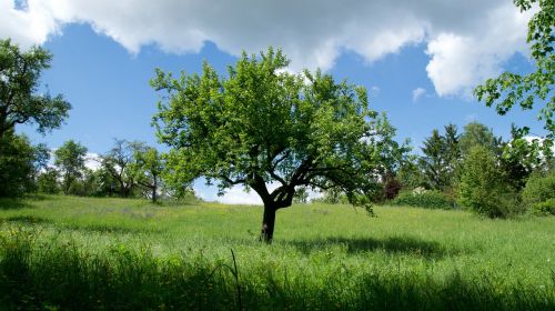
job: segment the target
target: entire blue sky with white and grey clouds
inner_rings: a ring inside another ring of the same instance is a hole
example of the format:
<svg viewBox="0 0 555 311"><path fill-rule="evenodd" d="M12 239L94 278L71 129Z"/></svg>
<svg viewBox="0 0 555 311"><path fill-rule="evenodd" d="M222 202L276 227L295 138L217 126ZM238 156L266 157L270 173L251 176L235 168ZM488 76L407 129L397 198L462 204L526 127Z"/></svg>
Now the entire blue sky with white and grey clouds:
<svg viewBox="0 0 555 311"><path fill-rule="evenodd" d="M478 121L508 138L511 124L543 136L537 111L506 116L477 102L472 90L503 71L533 70L527 21L511 0L0 0L0 38L53 53L41 89L62 93L72 110L47 136L17 130L56 149L73 139L91 154L113 139L158 144L152 116L154 69L200 72L203 61L224 73L242 50L282 48L289 70L322 70L364 86L370 107L385 111L400 141L418 151L433 129ZM260 203L234 188L206 200Z"/></svg>

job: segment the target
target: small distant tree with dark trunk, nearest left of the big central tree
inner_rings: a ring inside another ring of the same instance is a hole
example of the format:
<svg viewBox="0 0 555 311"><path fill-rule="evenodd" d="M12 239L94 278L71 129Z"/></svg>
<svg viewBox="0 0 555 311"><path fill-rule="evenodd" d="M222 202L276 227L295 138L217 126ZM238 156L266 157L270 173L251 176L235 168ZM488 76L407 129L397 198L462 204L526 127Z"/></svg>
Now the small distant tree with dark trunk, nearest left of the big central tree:
<svg viewBox="0 0 555 311"><path fill-rule="evenodd" d="M133 171L137 183L145 188L150 193L152 202L158 199L158 192L162 185L162 174L165 168L165 160L155 148L145 147L135 150Z"/></svg>

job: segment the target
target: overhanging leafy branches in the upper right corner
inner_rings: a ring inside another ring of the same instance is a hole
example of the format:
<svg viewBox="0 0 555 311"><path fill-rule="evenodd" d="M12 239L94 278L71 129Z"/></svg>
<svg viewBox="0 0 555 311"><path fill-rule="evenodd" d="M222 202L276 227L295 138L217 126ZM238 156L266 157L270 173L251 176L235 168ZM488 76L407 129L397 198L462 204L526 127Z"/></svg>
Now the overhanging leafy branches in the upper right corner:
<svg viewBox="0 0 555 311"><path fill-rule="evenodd" d="M555 124L553 123L555 109L553 92L555 82L555 54L553 53L555 2L553 0L514 0L514 3L521 11L532 9L534 3L537 3L539 8L528 22L527 36L535 71L525 76L504 72L478 86L474 93L478 100L485 101L487 107L495 104L497 113L502 116L515 104L521 106L524 110L532 109L534 104L543 106L538 119L544 121L547 137L542 148L546 154L551 154L555 138ZM522 134L527 134L528 131L528 128L523 128Z"/></svg>

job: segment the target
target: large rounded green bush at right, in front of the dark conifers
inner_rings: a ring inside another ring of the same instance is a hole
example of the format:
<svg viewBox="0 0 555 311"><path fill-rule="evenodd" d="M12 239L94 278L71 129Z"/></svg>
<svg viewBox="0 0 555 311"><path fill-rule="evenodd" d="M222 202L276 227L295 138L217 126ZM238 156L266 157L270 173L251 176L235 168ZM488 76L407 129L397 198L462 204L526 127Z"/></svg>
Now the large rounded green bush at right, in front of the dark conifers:
<svg viewBox="0 0 555 311"><path fill-rule="evenodd" d="M461 205L490 218L507 218L522 212L517 193L509 187L496 157L486 147L472 147L462 170L458 183Z"/></svg>

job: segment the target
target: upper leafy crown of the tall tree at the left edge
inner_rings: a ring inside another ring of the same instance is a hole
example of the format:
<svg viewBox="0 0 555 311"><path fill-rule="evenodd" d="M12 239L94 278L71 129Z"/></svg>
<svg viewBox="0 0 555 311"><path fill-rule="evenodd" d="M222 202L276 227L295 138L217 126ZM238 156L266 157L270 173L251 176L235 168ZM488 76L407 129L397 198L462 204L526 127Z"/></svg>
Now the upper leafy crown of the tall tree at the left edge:
<svg viewBox="0 0 555 311"><path fill-rule="evenodd" d="M0 138L16 124L36 123L44 133L68 118L71 106L61 94L36 94L40 74L51 60L52 54L40 47L21 52L10 39L0 39Z"/></svg>

